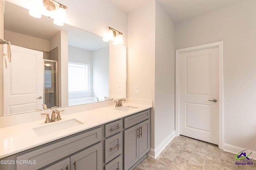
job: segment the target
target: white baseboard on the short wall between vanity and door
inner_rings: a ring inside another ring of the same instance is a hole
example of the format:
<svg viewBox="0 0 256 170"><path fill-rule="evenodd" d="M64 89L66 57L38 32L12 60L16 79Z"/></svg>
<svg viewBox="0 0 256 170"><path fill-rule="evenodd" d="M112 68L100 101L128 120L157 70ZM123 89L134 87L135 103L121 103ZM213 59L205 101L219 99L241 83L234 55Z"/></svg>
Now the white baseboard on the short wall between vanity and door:
<svg viewBox="0 0 256 170"><path fill-rule="evenodd" d="M160 153L165 149L165 147L172 141L172 139L174 139L174 137L176 137L175 131L173 131L166 139L164 139L164 141L158 147L156 147L156 149L151 148L148 152L148 156L156 159L157 156L159 156Z"/></svg>

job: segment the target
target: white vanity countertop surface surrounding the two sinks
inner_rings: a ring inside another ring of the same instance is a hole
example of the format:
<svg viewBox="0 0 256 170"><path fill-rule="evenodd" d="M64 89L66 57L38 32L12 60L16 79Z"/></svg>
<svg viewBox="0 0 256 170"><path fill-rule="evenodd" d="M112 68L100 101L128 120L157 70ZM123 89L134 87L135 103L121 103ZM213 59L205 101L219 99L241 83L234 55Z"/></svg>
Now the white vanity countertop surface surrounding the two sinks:
<svg viewBox="0 0 256 170"><path fill-rule="evenodd" d="M92 109L88 111L82 111L79 113L63 115L61 116L62 120L65 121L69 119L77 119L81 121L82 125L71 127L69 129L64 129L61 131L53 132L49 131L49 134L40 136L36 135L33 128L42 127L47 125L52 125L54 123L60 123L60 121L44 123L45 119L40 121L33 121L30 123L24 123L20 125L5 127L0 129L0 158L16 154L18 152L55 141L57 139L67 137L69 135L78 133L96 127L115 119L120 119L128 115L134 114L145 109L149 109L152 106L134 104L134 103L125 103L124 106L134 106L130 111L119 111L115 106L101 107L98 109ZM119 107L120 108L120 107ZM62 112L61 112L62 113ZM61 114L60 114L61 115ZM51 115L50 115L51 117ZM54 129L52 129L54 131Z"/></svg>

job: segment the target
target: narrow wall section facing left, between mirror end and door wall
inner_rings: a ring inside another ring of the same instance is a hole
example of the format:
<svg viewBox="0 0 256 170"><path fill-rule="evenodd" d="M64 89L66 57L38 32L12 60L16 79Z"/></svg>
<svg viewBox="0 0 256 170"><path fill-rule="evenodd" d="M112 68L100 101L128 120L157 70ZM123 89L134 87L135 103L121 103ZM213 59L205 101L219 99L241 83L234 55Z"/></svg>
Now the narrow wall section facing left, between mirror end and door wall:
<svg viewBox="0 0 256 170"><path fill-rule="evenodd" d="M174 137L175 49L174 22L158 2L155 43L155 151L159 153Z"/></svg>

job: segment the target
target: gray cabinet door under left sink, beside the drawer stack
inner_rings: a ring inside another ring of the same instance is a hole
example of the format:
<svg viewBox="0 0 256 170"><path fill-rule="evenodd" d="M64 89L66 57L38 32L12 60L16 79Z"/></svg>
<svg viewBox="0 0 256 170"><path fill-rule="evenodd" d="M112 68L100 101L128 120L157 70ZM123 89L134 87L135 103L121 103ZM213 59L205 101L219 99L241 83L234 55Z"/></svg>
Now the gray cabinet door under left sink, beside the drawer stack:
<svg viewBox="0 0 256 170"><path fill-rule="evenodd" d="M102 143L70 156L70 170L102 170Z"/></svg>

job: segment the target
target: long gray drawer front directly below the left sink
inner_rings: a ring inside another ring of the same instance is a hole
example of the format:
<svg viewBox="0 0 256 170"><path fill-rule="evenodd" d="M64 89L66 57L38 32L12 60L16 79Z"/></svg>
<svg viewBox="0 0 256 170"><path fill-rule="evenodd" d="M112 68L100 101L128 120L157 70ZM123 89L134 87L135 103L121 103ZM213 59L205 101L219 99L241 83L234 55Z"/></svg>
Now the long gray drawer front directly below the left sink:
<svg viewBox="0 0 256 170"><path fill-rule="evenodd" d="M17 156L17 160L36 161L36 164L17 164L17 170L37 170L101 140L102 128L99 127L85 133L72 135L68 139L57 141L48 146L43 145L39 149Z"/></svg>

